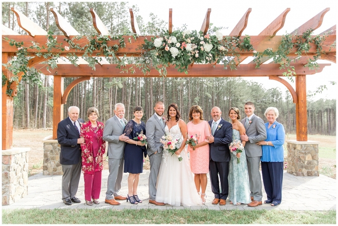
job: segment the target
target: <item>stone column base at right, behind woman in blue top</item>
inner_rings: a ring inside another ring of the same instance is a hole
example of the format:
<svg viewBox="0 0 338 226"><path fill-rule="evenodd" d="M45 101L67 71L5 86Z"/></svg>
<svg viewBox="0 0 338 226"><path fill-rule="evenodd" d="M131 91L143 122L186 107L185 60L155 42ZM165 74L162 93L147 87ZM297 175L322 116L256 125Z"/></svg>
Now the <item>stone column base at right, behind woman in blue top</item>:
<svg viewBox="0 0 338 226"><path fill-rule="evenodd" d="M287 172L295 176L319 176L317 141L286 141Z"/></svg>

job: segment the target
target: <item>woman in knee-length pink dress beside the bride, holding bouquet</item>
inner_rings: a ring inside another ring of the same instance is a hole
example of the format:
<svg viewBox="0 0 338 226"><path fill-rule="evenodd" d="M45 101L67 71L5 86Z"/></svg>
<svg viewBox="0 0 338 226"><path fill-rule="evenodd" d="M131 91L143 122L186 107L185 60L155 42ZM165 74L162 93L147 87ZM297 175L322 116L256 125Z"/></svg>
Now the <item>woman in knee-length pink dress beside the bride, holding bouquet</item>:
<svg viewBox="0 0 338 226"><path fill-rule="evenodd" d="M187 124L188 135L196 136L198 144L188 147L190 153L190 167L195 174L195 185L197 192L201 194L202 202L205 203L205 190L207 187L207 173L209 172L209 143L205 139L211 135L211 129L207 121L203 119L203 110L198 105L193 105L189 111ZM201 192L200 192L201 190Z"/></svg>

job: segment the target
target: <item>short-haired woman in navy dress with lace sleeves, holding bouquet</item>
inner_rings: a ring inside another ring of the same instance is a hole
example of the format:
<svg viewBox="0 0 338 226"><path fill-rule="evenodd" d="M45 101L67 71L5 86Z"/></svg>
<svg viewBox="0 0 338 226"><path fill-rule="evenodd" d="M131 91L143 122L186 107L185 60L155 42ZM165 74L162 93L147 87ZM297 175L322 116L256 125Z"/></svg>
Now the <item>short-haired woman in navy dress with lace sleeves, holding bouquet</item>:
<svg viewBox="0 0 338 226"><path fill-rule="evenodd" d="M140 173L143 172L143 155L146 153L146 146L139 140L133 140L141 133L146 135L146 124L141 121L143 117L143 108L137 106L134 108L134 118L130 120L123 133L129 137L124 148L124 172L128 176L128 199L131 204L142 203L137 196L137 185L139 183Z"/></svg>

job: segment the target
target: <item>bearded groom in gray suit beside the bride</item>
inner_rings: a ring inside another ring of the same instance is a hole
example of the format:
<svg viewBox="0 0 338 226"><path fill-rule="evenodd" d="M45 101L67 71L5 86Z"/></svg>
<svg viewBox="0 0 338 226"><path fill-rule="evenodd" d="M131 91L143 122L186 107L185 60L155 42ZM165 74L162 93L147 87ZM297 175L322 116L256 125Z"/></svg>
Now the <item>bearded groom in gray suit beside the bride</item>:
<svg viewBox="0 0 338 226"><path fill-rule="evenodd" d="M150 161L150 174L149 174L149 203L157 206L164 206L166 204L156 202L156 182L159 174L163 144L160 138L165 134L166 122L163 119L165 105L163 102L158 101L154 107L155 114L150 117L146 123L148 148L147 154Z"/></svg>

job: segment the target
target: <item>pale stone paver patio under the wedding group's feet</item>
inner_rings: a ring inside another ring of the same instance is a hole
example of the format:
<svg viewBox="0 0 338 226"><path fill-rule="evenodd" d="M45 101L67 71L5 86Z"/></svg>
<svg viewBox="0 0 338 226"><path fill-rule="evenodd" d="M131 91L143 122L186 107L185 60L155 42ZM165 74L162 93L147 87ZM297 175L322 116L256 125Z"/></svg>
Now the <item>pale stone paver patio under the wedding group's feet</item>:
<svg viewBox="0 0 338 226"><path fill-rule="evenodd" d="M102 187L100 194L100 204L87 206L84 204L84 178L83 174L80 178L79 190L77 197L82 200L80 204L73 204L66 206L61 200L61 179L62 176L43 176L42 173L36 174L28 178L28 195L21 200L9 206L2 206L2 209L159 209L159 210L172 210L172 209L210 209L210 210L294 210L294 211L328 211L336 210L336 197L337 197L337 182L335 179L320 175L318 177L296 177L284 171L283 176L283 190L282 190L282 203L276 207L271 207L270 204L264 204L258 207L248 207L245 204L234 206L230 204L229 199L225 206L212 205L213 193L211 192L210 180L208 174L207 186L207 202L203 206L193 207L173 207L155 206L149 204L148 198L148 177L149 170L145 170L140 175L140 182L138 187L138 195L143 203L132 205L129 202L121 202L119 206L111 206L104 203L105 192L107 188L108 170L102 171ZM127 195L127 177L128 173L124 173L122 179L121 194ZM263 184L262 184L263 185ZM266 194L263 187L263 201L266 199Z"/></svg>

